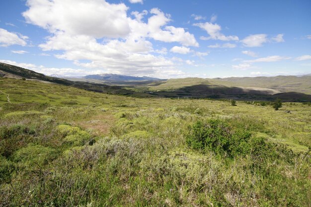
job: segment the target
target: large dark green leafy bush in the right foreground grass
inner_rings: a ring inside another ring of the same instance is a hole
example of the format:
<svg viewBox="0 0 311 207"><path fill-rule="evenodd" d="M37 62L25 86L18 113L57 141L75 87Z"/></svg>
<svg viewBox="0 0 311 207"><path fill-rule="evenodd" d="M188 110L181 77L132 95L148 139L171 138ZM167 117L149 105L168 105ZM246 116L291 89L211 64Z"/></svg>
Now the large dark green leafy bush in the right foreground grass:
<svg viewBox="0 0 311 207"><path fill-rule="evenodd" d="M197 121L189 127L188 145L196 150L212 150L216 154L234 157L259 155L270 148L264 138L252 137L245 130L235 130L222 120Z"/></svg>

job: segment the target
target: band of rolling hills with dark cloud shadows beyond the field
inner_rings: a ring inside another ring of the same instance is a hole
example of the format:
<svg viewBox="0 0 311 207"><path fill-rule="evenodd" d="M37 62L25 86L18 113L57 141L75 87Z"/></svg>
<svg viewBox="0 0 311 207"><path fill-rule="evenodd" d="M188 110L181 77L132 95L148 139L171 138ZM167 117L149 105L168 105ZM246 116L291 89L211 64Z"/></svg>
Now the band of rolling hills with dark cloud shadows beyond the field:
<svg viewBox="0 0 311 207"><path fill-rule="evenodd" d="M280 98L283 101L311 101L311 76L276 76L247 78L173 78L168 80L148 79L126 75L102 74L85 76L87 79L64 79L51 77L32 70L0 63L0 75L11 78L27 78L89 91L129 95L133 97L181 97L181 98L219 98L236 100L266 100ZM109 76L110 75L110 76ZM136 80L135 80L136 79ZM83 81L85 80L85 81ZM105 84L106 81L109 84ZM304 93L303 93L303 92Z"/></svg>

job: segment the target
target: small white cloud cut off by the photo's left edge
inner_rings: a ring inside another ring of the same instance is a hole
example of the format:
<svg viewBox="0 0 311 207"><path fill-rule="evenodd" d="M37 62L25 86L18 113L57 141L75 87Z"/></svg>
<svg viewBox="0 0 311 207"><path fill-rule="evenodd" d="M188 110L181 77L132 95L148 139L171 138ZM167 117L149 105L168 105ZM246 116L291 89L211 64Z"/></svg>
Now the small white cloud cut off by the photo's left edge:
<svg viewBox="0 0 311 207"><path fill-rule="evenodd" d="M23 36L18 33L9 32L5 29L0 28L0 47L7 47L10 45L21 45L26 46L27 36Z"/></svg>

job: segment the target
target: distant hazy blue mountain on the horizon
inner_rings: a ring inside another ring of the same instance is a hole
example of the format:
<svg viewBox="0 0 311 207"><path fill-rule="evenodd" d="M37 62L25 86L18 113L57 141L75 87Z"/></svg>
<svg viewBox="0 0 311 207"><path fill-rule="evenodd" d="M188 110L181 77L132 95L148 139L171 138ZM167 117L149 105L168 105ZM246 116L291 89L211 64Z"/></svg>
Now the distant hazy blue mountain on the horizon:
<svg viewBox="0 0 311 207"><path fill-rule="evenodd" d="M159 80L156 77L138 77L138 76L130 76L130 75L119 75L119 74L93 74L93 75L85 75L83 76L85 79L97 79L97 80L106 80L106 81L137 81L137 80Z"/></svg>

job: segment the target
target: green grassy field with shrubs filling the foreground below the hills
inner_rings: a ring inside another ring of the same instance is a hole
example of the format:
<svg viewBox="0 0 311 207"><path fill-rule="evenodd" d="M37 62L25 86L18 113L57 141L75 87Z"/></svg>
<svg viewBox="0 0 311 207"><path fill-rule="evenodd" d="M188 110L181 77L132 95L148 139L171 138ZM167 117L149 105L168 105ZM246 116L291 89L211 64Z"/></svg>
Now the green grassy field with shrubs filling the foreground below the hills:
<svg viewBox="0 0 311 207"><path fill-rule="evenodd" d="M308 104L0 90L1 207L311 206Z"/></svg>

